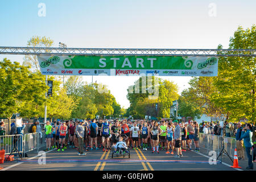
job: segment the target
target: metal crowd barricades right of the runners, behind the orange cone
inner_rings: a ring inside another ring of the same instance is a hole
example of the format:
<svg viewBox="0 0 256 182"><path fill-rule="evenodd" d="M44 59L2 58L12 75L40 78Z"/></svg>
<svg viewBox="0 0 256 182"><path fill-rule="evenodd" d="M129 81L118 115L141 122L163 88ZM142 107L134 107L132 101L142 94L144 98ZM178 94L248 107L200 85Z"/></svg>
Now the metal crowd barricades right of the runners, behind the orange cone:
<svg viewBox="0 0 256 182"><path fill-rule="evenodd" d="M222 141L224 141L225 150L233 158L234 150L236 148L236 139L230 137L224 137L212 134L200 133L199 136L199 146L209 151L216 151L217 155L220 154L222 149ZM201 150L200 150L201 152ZM207 154L208 155L208 154Z"/></svg>

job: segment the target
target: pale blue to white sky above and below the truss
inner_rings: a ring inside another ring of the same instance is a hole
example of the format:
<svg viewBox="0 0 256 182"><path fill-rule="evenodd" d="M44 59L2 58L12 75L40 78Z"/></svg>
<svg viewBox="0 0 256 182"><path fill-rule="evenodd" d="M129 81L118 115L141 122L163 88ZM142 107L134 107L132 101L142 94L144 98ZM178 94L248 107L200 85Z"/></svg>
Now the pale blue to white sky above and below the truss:
<svg viewBox="0 0 256 182"><path fill-rule="evenodd" d="M39 3L46 16L38 16ZM210 3L216 16L209 16ZM256 23L256 1L0 1L0 46L27 46L34 35L47 36L68 47L83 48L228 48L238 26ZM23 56L0 55L22 63ZM84 76L90 82L92 77ZM138 77L94 77L109 85L126 108L126 89ZM190 77L162 77L179 92ZM118 86L117 86L118 85Z"/></svg>

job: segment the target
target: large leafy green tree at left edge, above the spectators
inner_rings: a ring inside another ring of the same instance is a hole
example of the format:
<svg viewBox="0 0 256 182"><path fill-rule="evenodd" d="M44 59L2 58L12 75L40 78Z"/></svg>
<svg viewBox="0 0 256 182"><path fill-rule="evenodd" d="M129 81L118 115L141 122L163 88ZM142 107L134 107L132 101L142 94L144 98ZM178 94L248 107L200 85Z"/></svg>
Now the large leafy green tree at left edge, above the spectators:
<svg viewBox="0 0 256 182"><path fill-rule="evenodd" d="M28 68L15 61L0 61L0 115L9 119L9 125L15 113L22 117L37 115L37 107L45 101L43 93L48 86L39 73L31 73Z"/></svg>

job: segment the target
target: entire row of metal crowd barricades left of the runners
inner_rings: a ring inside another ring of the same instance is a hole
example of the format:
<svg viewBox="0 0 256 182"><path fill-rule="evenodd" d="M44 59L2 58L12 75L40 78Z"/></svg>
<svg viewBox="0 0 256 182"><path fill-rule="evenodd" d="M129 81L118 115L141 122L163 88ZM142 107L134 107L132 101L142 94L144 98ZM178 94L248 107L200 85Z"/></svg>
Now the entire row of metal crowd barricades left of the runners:
<svg viewBox="0 0 256 182"><path fill-rule="evenodd" d="M3 135L0 136L0 150L5 150L5 154L11 154L16 144L19 152L27 153L32 150L44 150L46 147L46 137L42 133L30 133L24 135ZM15 152L14 152L15 153Z"/></svg>

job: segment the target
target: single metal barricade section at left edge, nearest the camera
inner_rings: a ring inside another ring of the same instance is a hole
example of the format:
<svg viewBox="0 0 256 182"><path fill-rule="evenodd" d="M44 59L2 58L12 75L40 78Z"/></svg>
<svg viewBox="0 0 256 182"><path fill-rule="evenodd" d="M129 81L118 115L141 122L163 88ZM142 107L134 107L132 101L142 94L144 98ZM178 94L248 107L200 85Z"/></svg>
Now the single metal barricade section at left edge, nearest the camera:
<svg viewBox="0 0 256 182"><path fill-rule="evenodd" d="M0 136L0 150L5 150L5 154L11 154L14 147L19 152L23 150L23 136L22 135L3 135Z"/></svg>

